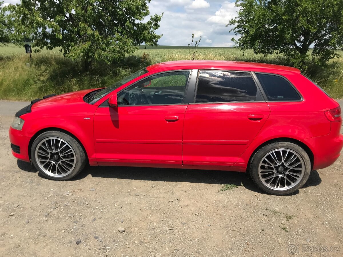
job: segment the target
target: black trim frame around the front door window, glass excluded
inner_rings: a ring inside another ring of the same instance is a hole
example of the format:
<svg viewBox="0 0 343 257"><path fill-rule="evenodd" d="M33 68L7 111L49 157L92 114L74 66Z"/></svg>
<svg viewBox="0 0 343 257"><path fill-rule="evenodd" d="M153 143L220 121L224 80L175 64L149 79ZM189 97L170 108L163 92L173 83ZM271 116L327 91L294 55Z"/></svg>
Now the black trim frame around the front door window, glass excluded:
<svg viewBox="0 0 343 257"><path fill-rule="evenodd" d="M188 91L188 88L189 88L189 85L190 85L190 81L191 81L191 78L192 78L192 73L193 73L193 69L185 69L185 70L169 70L169 71L162 71L162 72L157 72L157 73L153 73L151 74L150 76L146 76L144 78L141 78L140 80L128 85L127 87L121 89L120 91L117 92L117 95L120 94L122 91L126 90L127 88L143 81L144 79L147 79L149 77L152 77L152 76L155 76L155 75L159 75L159 74L163 74L163 73L169 73L169 72L178 72L178 71L189 71L189 77L188 77L188 81L187 81L187 85L186 85L186 88L185 88L185 93L184 93L184 97L182 98L182 101L181 103L167 103L167 104L158 104L158 105L118 105L118 107L133 107L133 106L167 106L167 105L188 105L187 102L185 102L185 99L186 99L186 94L187 94L187 91ZM111 92L113 93L113 92ZM110 94L110 93L109 93ZM107 94L106 96L108 96L109 94ZM108 105L108 98L99 105L99 107L109 107Z"/></svg>

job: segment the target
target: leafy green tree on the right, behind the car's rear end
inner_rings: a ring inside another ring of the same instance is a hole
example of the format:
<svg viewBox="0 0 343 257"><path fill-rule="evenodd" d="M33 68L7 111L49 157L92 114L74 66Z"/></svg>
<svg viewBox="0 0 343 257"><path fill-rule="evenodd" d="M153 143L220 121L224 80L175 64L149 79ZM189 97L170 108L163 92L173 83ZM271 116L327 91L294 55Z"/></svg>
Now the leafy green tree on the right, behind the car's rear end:
<svg viewBox="0 0 343 257"><path fill-rule="evenodd" d="M238 17L230 31L241 35L232 39L242 50L262 54L283 54L299 68L309 58L324 64L339 57L343 48L342 0L237 0Z"/></svg>

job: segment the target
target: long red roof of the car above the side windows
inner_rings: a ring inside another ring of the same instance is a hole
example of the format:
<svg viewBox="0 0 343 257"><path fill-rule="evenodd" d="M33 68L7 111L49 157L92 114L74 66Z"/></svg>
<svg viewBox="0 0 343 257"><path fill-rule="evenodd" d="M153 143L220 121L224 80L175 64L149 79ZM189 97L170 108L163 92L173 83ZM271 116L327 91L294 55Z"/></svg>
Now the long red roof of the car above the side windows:
<svg viewBox="0 0 343 257"><path fill-rule="evenodd" d="M240 70L240 71L291 71L300 73L300 70L267 63L257 62L239 62L239 61L214 61L214 60L185 60L185 61L169 61L150 65L146 68L150 72L162 72L167 70L183 70L183 69L208 69L208 70Z"/></svg>

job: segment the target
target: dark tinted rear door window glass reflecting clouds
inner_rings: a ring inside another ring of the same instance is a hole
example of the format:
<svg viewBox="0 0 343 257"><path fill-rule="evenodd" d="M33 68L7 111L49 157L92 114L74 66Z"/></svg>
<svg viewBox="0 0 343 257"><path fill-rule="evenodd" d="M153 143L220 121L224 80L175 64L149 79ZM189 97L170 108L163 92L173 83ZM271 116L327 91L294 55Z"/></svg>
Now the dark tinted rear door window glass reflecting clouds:
<svg viewBox="0 0 343 257"><path fill-rule="evenodd" d="M250 73L200 71L196 102L255 101L256 94Z"/></svg>

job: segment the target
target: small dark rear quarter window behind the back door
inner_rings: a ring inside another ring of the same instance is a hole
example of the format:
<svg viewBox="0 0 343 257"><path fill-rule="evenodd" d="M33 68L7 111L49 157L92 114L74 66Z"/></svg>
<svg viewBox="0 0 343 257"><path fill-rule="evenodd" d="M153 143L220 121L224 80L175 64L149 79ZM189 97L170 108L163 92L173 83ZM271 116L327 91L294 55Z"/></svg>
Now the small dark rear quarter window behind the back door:
<svg viewBox="0 0 343 257"><path fill-rule="evenodd" d="M301 99L289 82L280 76L256 73L269 101L298 101Z"/></svg>

